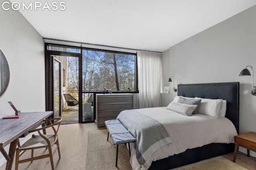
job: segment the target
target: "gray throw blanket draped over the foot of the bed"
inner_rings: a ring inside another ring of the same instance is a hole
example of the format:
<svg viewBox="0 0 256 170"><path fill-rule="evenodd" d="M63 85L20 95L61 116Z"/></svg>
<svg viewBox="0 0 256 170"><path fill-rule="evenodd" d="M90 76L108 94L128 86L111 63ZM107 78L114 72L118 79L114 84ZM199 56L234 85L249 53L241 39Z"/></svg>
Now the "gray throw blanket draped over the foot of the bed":
<svg viewBox="0 0 256 170"><path fill-rule="evenodd" d="M137 139L134 147L136 158L141 165L157 149L172 143L170 136L160 122L136 110L124 110L117 119Z"/></svg>

